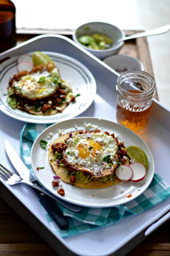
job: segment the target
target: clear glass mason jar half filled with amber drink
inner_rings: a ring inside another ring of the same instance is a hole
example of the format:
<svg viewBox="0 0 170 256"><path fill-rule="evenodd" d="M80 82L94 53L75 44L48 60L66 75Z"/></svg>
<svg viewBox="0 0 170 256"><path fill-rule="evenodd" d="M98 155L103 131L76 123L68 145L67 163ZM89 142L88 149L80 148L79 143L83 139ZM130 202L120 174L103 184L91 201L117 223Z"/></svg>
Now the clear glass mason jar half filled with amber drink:
<svg viewBox="0 0 170 256"><path fill-rule="evenodd" d="M116 118L132 131L142 129L148 122L155 92L153 77L138 70L123 72L117 79Z"/></svg>

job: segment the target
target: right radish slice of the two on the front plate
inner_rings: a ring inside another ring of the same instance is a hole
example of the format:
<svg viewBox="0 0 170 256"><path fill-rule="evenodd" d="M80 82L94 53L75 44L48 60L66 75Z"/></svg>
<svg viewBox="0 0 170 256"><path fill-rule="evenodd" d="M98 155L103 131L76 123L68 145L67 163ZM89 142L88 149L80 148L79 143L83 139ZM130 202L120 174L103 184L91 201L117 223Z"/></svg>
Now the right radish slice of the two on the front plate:
<svg viewBox="0 0 170 256"><path fill-rule="evenodd" d="M130 178L133 182L139 182L146 175L146 168L142 163L132 163L129 165L133 170L133 176Z"/></svg>

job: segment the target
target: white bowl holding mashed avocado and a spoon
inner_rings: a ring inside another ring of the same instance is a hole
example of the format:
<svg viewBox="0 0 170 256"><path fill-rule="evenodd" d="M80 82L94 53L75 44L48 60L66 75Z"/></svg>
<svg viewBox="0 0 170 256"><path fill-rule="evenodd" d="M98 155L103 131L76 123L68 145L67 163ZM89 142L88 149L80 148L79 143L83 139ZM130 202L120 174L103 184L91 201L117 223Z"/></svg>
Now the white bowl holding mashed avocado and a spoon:
<svg viewBox="0 0 170 256"><path fill-rule="evenodd" d="M91 52L94 56L98 57L99 59L104 59L107 56L116 54L120 48L122 47L122 45L124 44L124 42L120 42L118 45L116 45L115 47L110 47L108 49L104 49L104 50L95 50L95 49L90 49L86 46L84 46L83 44L81 44L78 41L78 38L80 36L83 35L93 35L94 33L102 33L108 37L110 37L114 41L116 41L117 39L124 37L125 36L125 32L121 29L119 29L118 27L109 24L109 23L104 23L104 22L90 22L90 23L86 23L81 25L80 27L78 27L73 35L72 38L73 40L80 45L81 47L83 47L84 49L88 50L89 52Z"/></svg>

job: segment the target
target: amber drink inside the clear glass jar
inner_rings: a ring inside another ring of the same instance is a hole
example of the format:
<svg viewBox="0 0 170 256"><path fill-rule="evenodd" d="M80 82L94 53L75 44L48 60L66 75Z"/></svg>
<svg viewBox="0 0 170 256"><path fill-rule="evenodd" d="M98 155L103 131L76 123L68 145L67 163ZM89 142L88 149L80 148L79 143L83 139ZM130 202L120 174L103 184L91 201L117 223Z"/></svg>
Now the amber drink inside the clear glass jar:
<svg viewBox="0 0 170 256"><path fill-rule="evenodd" d="M133 93L141 93L137 90L128 90L129 92ZM145 110L135 111L134 107L133 110L130 110L131 106L129 104L128 109L123 108L122 106L116 106L116 118L119 124L122 124L129 128L132 131L138 131L142 129L148 122L149 114L151 106Z"/></svg>

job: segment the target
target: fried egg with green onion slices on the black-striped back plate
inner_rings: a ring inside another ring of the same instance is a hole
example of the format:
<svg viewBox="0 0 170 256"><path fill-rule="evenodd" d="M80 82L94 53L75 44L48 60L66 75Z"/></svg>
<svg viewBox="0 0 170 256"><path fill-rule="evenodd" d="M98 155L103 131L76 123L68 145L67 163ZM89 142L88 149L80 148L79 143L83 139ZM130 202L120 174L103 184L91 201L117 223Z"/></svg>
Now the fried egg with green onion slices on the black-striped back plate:
<svg viewBox="0 0 170 256"><path fill-rule="evenodd" d="M29 100L42 99L53 94L58 88L57 79L59 72L57 67L48 71L44 67L41 71L28 73L19 81L13 83L13 90L21 97Z"/></svg>

